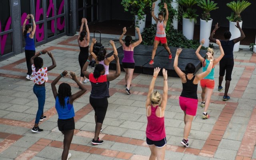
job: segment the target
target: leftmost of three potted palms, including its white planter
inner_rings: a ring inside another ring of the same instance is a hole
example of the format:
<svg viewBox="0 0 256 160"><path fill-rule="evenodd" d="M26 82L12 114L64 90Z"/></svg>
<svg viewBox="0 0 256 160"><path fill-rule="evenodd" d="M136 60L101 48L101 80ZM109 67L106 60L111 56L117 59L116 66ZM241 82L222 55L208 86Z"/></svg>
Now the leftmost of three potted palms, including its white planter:
<svg viewBox="0 0 256 160"><path fill-rule="evenodd" d="M189 40L193 40L194 37L194 25L197 22L198 15L196 14L196 9L192 8L192 6L197 2L198 0L178 0L179 5L186 8L186 10L183 9L182 32Z"/></svg>

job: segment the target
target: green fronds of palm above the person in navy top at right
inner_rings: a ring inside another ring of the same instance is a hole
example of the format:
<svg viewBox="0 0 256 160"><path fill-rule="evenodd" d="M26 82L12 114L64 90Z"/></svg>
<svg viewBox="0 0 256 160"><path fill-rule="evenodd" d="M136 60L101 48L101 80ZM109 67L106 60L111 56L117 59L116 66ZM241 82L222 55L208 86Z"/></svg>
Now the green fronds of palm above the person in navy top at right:
<svg viewBox="0 0 256 160"><path fill-rule="evenodd" d="M238 1L232 1L230 3L227 3L227 6L231 8L233 11L231 13L231 16L227 17L227 19L231 22L239 21L241 22L241 12L243 12L248 6L250 6L251 3L246 0L238 0Z"/></svg>

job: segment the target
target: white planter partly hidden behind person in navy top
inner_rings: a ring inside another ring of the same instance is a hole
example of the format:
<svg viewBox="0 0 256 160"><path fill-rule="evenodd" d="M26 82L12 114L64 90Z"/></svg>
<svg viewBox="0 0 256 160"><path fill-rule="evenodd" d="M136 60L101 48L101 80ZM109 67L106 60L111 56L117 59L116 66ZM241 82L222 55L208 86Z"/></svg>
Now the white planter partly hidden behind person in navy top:
<svg viewBox="0 0 256 160"><path fill-rule="evenodd" d="M242 28L242 23L243 21L239 22L240 27ZM233 40L235 38L238 38L241 36L240 30L238 28L236 28L236 22L231 22L229 21L229 31L231 32L231 38L230 40ZM234 45L234 49L233 52L238 52L239 51L239 46L240 46L240 42L237 42Z"/></svg>

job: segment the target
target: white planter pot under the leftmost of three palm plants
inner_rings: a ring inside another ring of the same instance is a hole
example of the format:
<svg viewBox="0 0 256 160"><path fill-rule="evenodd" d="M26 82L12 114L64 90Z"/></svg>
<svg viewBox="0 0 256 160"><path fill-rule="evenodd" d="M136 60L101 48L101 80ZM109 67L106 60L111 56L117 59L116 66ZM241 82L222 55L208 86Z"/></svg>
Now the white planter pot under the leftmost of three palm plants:
<svg viewBox="0 0 256 160"><path fill-rule="evenodd" d="M188 38L188 40L193 40L194 37L194 25L193 19L182 18L182 33Z"/></svg>

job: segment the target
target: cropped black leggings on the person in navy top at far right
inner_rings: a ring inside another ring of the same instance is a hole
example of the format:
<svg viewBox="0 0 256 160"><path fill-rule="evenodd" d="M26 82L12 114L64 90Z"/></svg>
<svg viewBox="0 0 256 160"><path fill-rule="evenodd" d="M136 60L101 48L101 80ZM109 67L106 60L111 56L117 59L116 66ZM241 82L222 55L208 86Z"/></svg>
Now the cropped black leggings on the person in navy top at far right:
<svg viewBox="0 0 256 160"><path fill-rule="evenodd" d="M225 80L231 80L233 67L234 67L233 58L222 58L220 60L220 76L224 76L226 71Z"/></svg>

